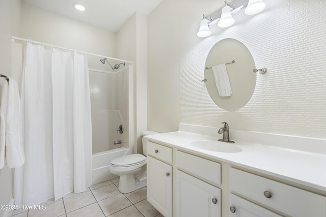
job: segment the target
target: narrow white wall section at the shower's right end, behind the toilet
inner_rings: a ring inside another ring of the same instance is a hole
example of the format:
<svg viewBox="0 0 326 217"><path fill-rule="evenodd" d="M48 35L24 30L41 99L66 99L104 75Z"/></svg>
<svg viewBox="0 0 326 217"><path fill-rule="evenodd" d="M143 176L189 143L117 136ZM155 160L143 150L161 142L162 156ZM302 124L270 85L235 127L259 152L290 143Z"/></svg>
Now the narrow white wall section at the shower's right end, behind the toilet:
<svg viewBox="0 0 326 217"><path fill-rule="evenodd" d="M133 61L134 141L133 153L142 153L140 135L147 130L147 17L134 13L117 33L117 57ZM135 144L136 144L135 143Z"/></svg>

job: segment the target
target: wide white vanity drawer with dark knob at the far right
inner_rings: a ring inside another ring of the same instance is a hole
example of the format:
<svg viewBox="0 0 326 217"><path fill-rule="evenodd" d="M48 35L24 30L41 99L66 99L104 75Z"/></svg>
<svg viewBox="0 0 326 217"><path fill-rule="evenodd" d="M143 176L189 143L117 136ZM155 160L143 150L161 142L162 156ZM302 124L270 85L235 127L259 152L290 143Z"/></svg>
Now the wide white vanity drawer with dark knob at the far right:
<svg viewBox="0 0 326 217"><path fill-rule="evenodd" d="M326 197L234 168L230 190L291 216L326 216Z"/></svg>

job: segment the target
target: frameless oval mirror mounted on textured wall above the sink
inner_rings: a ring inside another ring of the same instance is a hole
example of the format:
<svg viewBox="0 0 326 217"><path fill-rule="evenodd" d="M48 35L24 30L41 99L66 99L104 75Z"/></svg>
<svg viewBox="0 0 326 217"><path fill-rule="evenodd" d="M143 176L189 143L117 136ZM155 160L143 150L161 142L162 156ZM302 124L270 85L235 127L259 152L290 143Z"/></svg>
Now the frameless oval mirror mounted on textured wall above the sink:
<svg viewBox="0 0 326 217"><path fill-rule="evenodd" d="M256 86L253 69L254 58L244 44L235 39L216 43L208 53L204 69L206 88L215 104L227 111L245 106Z"/></svg>

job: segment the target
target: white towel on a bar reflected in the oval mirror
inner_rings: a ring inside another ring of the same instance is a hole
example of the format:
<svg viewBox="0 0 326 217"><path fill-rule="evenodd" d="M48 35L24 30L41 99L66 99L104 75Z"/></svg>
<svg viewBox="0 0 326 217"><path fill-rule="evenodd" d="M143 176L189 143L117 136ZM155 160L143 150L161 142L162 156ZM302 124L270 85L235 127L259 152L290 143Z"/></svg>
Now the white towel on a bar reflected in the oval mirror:
<svg viewBox="0 0 326 217"><path fill-rule="evenodd" d="M229 97L232 94L229 76L226 71L225 64L212 67L216 88L220 97Z"/></svg>

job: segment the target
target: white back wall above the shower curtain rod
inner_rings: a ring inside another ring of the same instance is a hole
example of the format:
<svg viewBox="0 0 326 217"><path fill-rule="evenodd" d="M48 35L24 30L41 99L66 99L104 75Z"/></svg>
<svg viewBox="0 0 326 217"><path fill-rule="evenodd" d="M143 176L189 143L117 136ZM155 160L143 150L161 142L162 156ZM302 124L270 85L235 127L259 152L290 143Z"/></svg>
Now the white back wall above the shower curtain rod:
<svg viewBox="0 0 326 217"><path fill-rule="evenodd" d="M21 37L115 56L116 34L22 2ZM98 59L98 58L97 58Z"/></svg>

